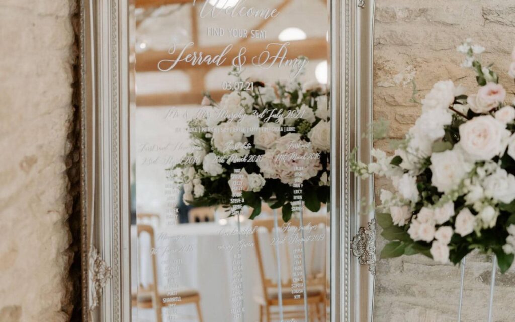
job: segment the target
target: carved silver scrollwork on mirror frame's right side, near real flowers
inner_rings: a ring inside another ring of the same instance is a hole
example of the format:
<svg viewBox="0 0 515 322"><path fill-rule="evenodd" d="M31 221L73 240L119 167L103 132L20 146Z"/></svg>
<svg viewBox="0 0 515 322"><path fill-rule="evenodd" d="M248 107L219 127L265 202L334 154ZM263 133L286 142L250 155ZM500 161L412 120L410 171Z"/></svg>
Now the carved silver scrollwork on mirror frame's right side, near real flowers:
<svg viewBox="0 0 515 322"><path fill-rule="evenodd" d="M368 265L370 274L375 276L375 219L368 223L367 228L359 228L352 239L351 250L359 264Z"/></svg>

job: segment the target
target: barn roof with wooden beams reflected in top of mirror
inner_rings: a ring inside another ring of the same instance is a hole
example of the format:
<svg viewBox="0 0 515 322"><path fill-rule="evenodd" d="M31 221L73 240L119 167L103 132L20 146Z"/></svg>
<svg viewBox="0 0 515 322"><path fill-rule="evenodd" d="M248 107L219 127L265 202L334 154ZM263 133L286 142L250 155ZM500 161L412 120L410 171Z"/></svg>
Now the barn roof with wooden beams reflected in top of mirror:
<svg viewBox="0 0 515 322"><path fill-rule="evenodd" d="M225 1L225 0L223 0ZM210 90L214 99L219 100L227 91L222 90L220 84L213 88L213 81L219 82L220 77L226 75L232 65L233 59L238 56L242 47L247 52L247 66L252 57L258 56L266 46L277 39L277 35L286 27L298 25L305 32L307 39L290 41L285 59L295 59L305 56L310 60L325 60L328 55L326 32L328 30L327 8L325 0L247 0L245 6L261 9L276 9L279 14L268 19L255 17L240 17L220 15L212 18L210 15L200 18L199 12L204 5L197 0L136 0L136 42L144 43L136 46L136 72L138 74L158 72L158 64L163 59L174 59L181 52L181 46L193 42L184 55L202 53L216 56L224 51L228 44L234 47L227 54L226 59L219 65L202 64L192 66L187 62L178 62L173 73L180 73L179 77L169 77L166 82L177 82L179 86L172 86L166 90L152 90L152 87L163 88L163 77L145 77L140 83L138 76L138 95L136 104L141 106L170 106L199 104L202 93ZM220 18L221 17L221 18ZM239 28L248 30L249 38L231 38L228 32L223 37L208 35L208 27ZM252 39L251 30L266 30L266 39ZM277 41L279 43L279 40ZM168 50L177 44L176 52L170 55ZM145 47L146 50L142 47ZM223 71L223 74L220 74ZM267 73L274 71L267 70ZM156 73L157 74L157 73ZM175 74L175 75L176 75ZM210 75L212 75L210 77ZM171 76L171 75L169 75ZM189 86L184 85L189 83ZM156 85L156 86L154 86ZM143 90L143 91L140 91ZM143 92L143 93L142 93Z"/></svg>

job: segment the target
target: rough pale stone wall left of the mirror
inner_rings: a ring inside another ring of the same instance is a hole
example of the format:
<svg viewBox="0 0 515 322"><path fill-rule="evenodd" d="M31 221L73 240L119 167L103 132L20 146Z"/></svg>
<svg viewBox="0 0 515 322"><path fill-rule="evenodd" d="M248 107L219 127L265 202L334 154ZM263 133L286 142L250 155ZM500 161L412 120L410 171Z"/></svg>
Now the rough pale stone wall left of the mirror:
<svg viewBox="0 0 515 322"><path fill-rule="evenodd" d="M76 11L73 0L0 2L2 322L67 321L72 311Z"/></svg>

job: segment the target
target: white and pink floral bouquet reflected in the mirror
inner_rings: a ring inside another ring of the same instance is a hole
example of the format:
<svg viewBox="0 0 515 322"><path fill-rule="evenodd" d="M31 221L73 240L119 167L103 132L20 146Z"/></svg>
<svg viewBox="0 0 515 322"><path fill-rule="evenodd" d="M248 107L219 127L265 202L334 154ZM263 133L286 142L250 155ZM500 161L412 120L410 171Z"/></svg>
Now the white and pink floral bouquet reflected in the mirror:
<svg viewBox="0 0 515 322"><path fill-rule="evenodd" d="M230 75L238 79L232 87L239 89L219 103L206 94L188 122L194 149L174 167L184 202L229 206L234 193L241 193L243 205L253 208L251 219L264 201L282 208L286 222L301 191L305 206L320 210L330 197L331 113L325 87L297 79L243 80L237 70Z"/></svg>

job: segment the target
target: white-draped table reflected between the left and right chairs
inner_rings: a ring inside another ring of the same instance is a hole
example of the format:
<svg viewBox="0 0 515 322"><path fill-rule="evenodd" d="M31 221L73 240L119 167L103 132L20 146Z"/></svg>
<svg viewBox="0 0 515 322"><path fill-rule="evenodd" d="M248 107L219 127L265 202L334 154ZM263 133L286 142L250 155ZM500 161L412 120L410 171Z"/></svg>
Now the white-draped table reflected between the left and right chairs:
<svg viewBox="0 0 515 322"><path fill-rule="evenodd" d="M253 243L249 221L242 224L241 236L243 264L243 297L245 321L259 320L259 303L261 281L258 262ZM140 240L141 275L143 284L152 281L149 248ZM148 245L148 244L147 244ZM235 225L221 226L215 223L182 224L174 227L156 229L156 246L158 248L158 276L160 290L167 291L163 263L181 260L177 280L180 287L195 289L200 294L200 306L204 321L233 321L231 309L231 291L233 287L233 260L238 253L238 234ZM147 246L148 247L148 246ZM145 258L146 257L146 258ZM142 313L142 312L141 312ZM140 313L140 316L141 316ZM166 320L166 309L163 311ZM177 307L180 316L195 317L193 305ZM183 320L179 318L178 320Z"/></svg>

